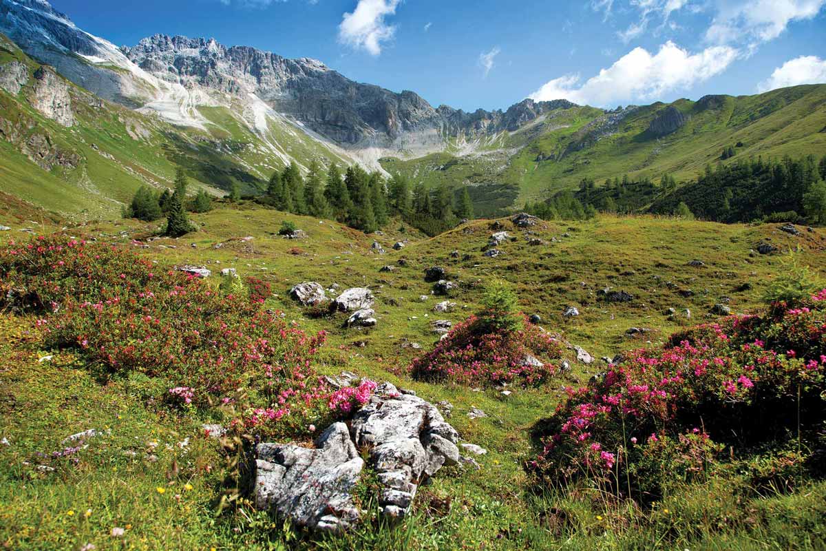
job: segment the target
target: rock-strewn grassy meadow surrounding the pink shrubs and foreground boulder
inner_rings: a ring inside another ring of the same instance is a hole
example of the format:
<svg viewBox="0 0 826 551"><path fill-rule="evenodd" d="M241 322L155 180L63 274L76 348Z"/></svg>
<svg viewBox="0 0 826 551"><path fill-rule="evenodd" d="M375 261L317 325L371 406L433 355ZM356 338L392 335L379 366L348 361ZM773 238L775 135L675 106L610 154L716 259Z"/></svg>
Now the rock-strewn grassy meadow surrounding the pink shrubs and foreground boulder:
<svg viewBox="0 0 826 551"><path fill-rule="evenodd" d="M826 486L822 484L791 496L765 498L747 496L748 492L741 493L743 489L736 484L727 484L714 488L714 500L708 499L708 488L700 488L701 492L663 501L662 507L672 513L655 512L636 520L634 515L597 517L601 513L598 500L587 506L582 501L534 496L520 464L534 453L528 431L536 420L553 411L562 384L586 381L602 369L601 363L577 364L566 378L538 389L515 388L514 394L505 398L492 389L472 392L465 387L412 381L404 368L413 352L401 348L405 340L429 347L435 340L430 321L463 320L477 306L479 291L474 283L491 278L515 283L525 311L539 313L549 330L558 330L595 356L642 345L642 340L624 336L624 330L632 325L651 329L646 338L657 344L688 323L680 316L674 320L663 316L666 307L691 308L691 321L702 321L722 295L731 297L735 311L758 306L762 287L778 268L776 256L749 254L758 240L768 239L782 248L802 245L806 261L823 271L826 236L820 230L795 238L776 226L601 217L534 228L532 231L544 240L560 240L534 247L525 244L524 230L508 227L517 241L502 245L506 254L500 258L485 259L481 248L490 234L486 221L434 239L411 235L410 230L401 234L392 228L385 235L374 236L388 251L378 255L370 249L373 236L332 222L245 204L199 215L195 220L202 223L201 231L179 240L154 240L141 254L161 264L193 262L215 270L235 267L242 275L268 280L278 295L271 299L272 305L285 311L288 319L305 330L330 331L330 342L321 355L322 372L350 369L415 389L431 401L449 400L455 406L451 422L463 438L489 449L489 454L479 459L481 471L459 475L444 469L432 485L422 487L417 515L400 530L367 528L352 539L318 544L318 549L651 549L657 541L662 545L667 534L676 538L672 541L680 549L786 549L792 546L790 541L805 543L807 534L814 534L812 522L823 522ZM284 220L295 221L309 239L289 241L275 235ZM505 224L509 226L509 222ZM131 246L130 240L150 235L151 226L117 221L90 223L70 231ZM569 236L564 236L566 233ZM239 239L247 235L254 239ZM15 232L9 236L14 237ZM390 245L404 237L411 238L411 243L393 251ZM0 235L0 239L5 238ZM214 249L218 243L224 245ZM459 250L460 259L450 258L453 249ZM469 258L463 259L464 254ZM378 272L382 265L396 264L401 258L407 259L406 268ZM702 259L705 267L686 266L695 258ZM453 299L459 305L453 313L434 314L434 297L419 300L420 295L430 292L422 275L432 264L443 265L451 278L463 283L462 292ZM303 280L325 286L337 283L342 288L369 285L378 299L377 328L345 330L341 316L306 318L287 297L292 284ZM681 297L667 287L668 281L693 289L695 296ZM753 287L748 292L735 292L734 287L741 283ZM605 285L624 289L636 298L624 305L596 302L596 291ZM568 305L579 306L582 316L563 321L561 311ZM212 498L221 485L207 473L207 465L216 468L219 458L215 444L197 437L196 420L169 415L154 406L151 391L157 389L150 381L116 379L102 384L93 369L79 364L68 352L48 351L55 357L37 363L38 356L47 351L38 354L27 344L26 333L33 330L30 324L0 318L0 332L7 337L0 340L0 346L5 347L0 349L5 360L0 368L0 435L12 443L0 446L0 463L8 466L0 477L0 544L13 549L79 549L93 542L97 549L109 549L115 545L109 530L127 524L131 530L125 541L135 549L269 549L270 545L279 549L278 545L290 538L289 531L283 532L281 525L263 517L214 522ZM466 414L472 406L481 407L488 417L470 420ZM37 473L31 465L23 465L22 461L37 451L59 449L64 436L93 427L111 428L112 435L90 443L79 456L78 468ZM190 449L184 452L175 444L188 436L192 437ZM145 459L151 453L147 448L151 441L160 443L159 451L154 452L157 461ZM172 449L164 444L171 444ZM124 450L137 455L131 458ZM166 475L173 459L180 473L168 482ZM192 483L192 491L183 489L185 482ZM168 491L161 495L156 487ZM179 502L176 494L181 495ZM447 515L430 511L434 497L447 496L453 497ZM552 522L553 507L564 507L571 515L562 526ZM78 518L88 508L92 509L88 520ZM75 515L67 515L69 510ZM700 535L692 541L680 540L682 529L677 530L676 525L696 525ZM703 530L708 530L705 538ZM801 544L797 549L818 549L817 541L810 540L808 547ZM295 545L313 546L306 542Z"/></svg>

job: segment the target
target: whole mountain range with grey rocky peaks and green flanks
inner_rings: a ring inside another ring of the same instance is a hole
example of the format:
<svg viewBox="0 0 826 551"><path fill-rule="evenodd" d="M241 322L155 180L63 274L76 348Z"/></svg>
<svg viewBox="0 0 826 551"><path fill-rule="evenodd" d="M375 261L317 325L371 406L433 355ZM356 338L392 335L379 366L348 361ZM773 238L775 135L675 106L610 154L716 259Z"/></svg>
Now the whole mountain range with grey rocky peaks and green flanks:
<svg viewBox="0 0 826 551"><path fill-rule="evenodd" d="M463 112L212 39L117 47L45 0L0 0L0 33L0 191L74 216L111 213L178 166L217 194L232 183L258 192L292 161L358 163L468 185L487 214L582 178L690 178L734 143L741 156L826 150L823 85L611 111L525 99ZM89 193L104 200L81 200Z"/></svg>

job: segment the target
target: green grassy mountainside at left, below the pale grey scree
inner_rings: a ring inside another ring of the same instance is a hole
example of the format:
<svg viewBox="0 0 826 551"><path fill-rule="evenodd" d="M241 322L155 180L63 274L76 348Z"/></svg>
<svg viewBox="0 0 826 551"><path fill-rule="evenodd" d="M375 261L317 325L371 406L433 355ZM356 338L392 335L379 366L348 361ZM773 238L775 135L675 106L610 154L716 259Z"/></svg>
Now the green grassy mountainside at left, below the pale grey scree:
<svg viewBox="0 0 826 551"><path fill-rule="evenodd" d="M79 220L116 215L142 184L170 187L175 170L187 170L197 187L223 195L233 183L256 193L290 159L349 164L291 123L267 117L266 132L225 107L203 108L207 131L171 126L157 117L105 102L66 83L76 122L66 128L31 107L33 74L40 67L0 36L0 65L26 64L29 82L16 96L0 90L0 190L33 207ZM68 164L36 164L31 140L53 154L76 155Z"/></svg>

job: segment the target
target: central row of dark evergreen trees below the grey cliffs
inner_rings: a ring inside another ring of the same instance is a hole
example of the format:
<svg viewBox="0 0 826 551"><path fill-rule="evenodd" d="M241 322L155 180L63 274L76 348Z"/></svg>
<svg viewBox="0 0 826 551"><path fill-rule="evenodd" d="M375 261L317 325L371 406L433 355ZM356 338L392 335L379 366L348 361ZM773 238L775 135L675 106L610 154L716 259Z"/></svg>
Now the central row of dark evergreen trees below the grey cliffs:
<svg viewBox="0 0 826 551"><path fill-rule="evenodd" d="M387 180L358 165L342 173L336 164L322 173L315 161L304 176L295 164L273 173L258 201L279 211L331 218L365 233L382 228L391 216L401 216L426 234L437 235L473 216L467 188L456 192L418 185L411 190L401 175Z"/></svg>

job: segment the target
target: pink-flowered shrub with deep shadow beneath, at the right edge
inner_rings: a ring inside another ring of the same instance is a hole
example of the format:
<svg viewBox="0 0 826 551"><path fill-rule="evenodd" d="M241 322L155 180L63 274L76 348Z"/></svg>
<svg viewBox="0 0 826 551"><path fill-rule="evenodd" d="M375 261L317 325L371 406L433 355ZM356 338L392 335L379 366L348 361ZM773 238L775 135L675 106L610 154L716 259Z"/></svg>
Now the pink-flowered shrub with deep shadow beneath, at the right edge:
<svg viewBox="0 0 826 551"><path fill-rule="evenodd" d="M662 349L627 354L600 381L567 390L538 426L534 468L553 480L591 477L657 496L670 482L704 475L723 444L748 454L786 441L798 415L814 435L826 420L824 296L699 325Z"/></svg>

